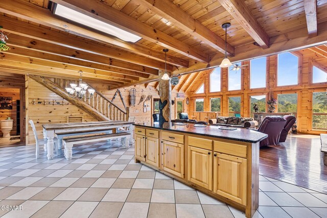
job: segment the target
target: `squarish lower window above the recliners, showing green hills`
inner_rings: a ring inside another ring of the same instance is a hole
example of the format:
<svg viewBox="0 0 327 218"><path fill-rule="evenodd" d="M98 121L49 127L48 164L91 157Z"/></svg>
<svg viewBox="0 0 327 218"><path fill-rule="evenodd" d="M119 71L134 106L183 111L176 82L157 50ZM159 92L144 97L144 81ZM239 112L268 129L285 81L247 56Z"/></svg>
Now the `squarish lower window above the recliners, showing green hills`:
<svg viewBox="0 0 327 218"><path fill-rule="evenodd" d="M279 113L296 113L297 111L297 94L278 94L277 110Z"/></svg>

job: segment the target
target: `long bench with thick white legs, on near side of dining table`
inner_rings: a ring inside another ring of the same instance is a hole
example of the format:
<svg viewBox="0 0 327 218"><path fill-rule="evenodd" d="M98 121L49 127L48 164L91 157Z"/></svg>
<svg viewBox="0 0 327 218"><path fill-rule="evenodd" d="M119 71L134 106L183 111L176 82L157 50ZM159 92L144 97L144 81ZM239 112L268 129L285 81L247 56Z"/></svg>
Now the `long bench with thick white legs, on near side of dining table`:
<svg viewBox="0 0 327 218"><path fill-rule="evenodd" d="M127 147L128 143L129 143L129 140L128 140L129 136L130 136L130 133L128 133L128 132L119 132L119 133L110 133L110 134L104 134L104 135L65 138L65 139L63 139L63 145L65 148L65 150L64 150L65 158L67 160L72 159L72 155L73 155L72 149L73 149L74 144L121 138L122 144L125 144L125 146Z"/></svg>

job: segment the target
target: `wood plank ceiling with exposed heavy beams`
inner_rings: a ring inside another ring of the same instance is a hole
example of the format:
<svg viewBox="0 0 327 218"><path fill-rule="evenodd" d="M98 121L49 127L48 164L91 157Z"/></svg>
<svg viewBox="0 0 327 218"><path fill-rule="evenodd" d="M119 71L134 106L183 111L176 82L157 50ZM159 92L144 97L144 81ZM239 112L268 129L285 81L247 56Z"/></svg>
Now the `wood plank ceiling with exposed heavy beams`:
<svg viewBox="0 0 327 218"><path fill-rule="evenodd" d="M54 15L54 3L140 37L136 43ZM6 72L101 81L110 88L153 83L158 70L182 76L231 61L327 43L327 0L3 0L0 26L11 49ZM183 76L178 90L195 76Z"/></svg>

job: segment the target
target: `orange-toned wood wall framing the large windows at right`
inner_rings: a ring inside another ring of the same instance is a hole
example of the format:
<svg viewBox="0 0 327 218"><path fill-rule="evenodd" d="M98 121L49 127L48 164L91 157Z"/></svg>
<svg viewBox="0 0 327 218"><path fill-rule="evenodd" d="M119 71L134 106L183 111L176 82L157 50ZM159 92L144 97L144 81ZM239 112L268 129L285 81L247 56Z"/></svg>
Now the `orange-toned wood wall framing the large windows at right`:
<svg viewBox="0 0 327 218"><path fill-rule="evenodd" d="M270 95L277 98L277 94L297 93L297 130L301 133L321 134L327 131L312 130L312 92L326 91L327 83L312 84L312 66L327 68L327 56L318 54L310 49L293 52L299 58L298 84L292 86L277 86L277 55L267 57L266 87L250 89L250 61L242 62L249 64L242 69L241 90L228 91L228 69L221 70L221 91L210 92L210 73L204 72L187 92L191 96L190 111L195 111L195 99L204 99L204 111L210 111L210 99L221 98L221 115L228 116L228 97L241 97L241 116L250 116L250 96ZM204 83L204 93L195 92ZM276 108L278 111L278 108ZM267 111L267 106L266 106ZM276 112L277 112L276 111Z"/></svg>

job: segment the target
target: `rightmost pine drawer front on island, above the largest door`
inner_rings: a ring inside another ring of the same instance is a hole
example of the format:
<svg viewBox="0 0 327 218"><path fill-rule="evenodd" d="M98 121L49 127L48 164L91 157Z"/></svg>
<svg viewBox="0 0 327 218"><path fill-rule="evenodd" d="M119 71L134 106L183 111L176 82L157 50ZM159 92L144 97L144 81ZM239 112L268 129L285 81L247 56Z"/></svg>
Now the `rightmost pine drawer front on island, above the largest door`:
<svg viewBox="0 0 327 218"><path fill-rule="evenodd" d="M247 155L246 146L223 141L214 141L214 151L244 158Z"/></svg>

